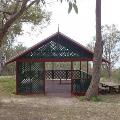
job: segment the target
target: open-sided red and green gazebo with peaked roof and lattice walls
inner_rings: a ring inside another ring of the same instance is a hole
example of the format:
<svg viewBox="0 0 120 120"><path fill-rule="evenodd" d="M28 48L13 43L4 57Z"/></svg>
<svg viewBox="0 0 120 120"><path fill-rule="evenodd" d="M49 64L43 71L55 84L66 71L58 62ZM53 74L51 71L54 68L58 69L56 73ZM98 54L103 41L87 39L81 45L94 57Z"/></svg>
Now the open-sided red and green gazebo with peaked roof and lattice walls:
<svg viewBox="0 0 120 120"><path fill-rule="evenodd" d="M16 62L16 94L47 94L65 92L72 95L84 95L91 81L88 62L93 61L94 53L57 32L33 47L11 58L6 64ZM79 69L73 63L78 61ZM86 72L81 69L81 62L86 61ZM108 62L102 59L103 62ZM47 69L47 63L69 62L70 69ZM61 87L62 86L62 87Z"/></svg>

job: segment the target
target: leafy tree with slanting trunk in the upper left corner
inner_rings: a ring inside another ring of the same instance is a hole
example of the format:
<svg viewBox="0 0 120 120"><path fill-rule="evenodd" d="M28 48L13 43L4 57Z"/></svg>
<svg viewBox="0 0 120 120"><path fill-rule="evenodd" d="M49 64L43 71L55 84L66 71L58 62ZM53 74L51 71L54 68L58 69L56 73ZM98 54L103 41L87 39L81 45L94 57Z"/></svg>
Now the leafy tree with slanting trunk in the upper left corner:
<svg viewBox="0 0 120 120"><path fill-rule="evenodd" d="M4 45L10 45L16 35L22 34L23 23L49 23L50 13L42 4L45 4L44 0L0 0L0 72Z"/></svg>

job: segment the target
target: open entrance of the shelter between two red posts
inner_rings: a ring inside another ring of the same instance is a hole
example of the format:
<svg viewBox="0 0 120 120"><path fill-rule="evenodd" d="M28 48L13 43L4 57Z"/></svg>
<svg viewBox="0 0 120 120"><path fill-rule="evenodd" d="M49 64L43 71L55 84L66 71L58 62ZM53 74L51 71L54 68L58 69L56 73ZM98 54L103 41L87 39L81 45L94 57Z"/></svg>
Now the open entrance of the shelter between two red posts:
<svg viewBox="0 0 120 120"><path fill-rule="evenodd" d="M71 96L71 62L45 63L45 94Z"/></svg>

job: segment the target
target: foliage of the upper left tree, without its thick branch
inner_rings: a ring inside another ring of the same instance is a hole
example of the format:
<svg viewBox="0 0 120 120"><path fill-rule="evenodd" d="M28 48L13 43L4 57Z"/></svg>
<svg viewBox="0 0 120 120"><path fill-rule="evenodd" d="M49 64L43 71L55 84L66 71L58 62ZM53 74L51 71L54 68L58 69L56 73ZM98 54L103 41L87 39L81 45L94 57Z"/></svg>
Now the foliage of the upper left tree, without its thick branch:
<svg viewBox="0 0 120 120"><path fill-rule="evenodd" d="M4 25L6 25L9 20L8 18L12 18L21 10L23 1L18 2L18 4L17 2L18 1L8 0L0 1L0 30L4 28ZM28 1L28 3L31 2L32 1ZM46 10L42 7L43 4L40 3L44 4L44 0L36 0L36 4L34 3L32 6L28 7L24 13L17 18L17 20L12 21L12 24L9 25L9 30L7 30L7 34L5 34L5 37L2 40L2 44L7 44L9 41L14 42L14 38L17 35L23 34L23 23L32 23L32 27L39 25L39 28L41 29L43 26L45 27L49 24L51 13L46 12Z"/></svg>

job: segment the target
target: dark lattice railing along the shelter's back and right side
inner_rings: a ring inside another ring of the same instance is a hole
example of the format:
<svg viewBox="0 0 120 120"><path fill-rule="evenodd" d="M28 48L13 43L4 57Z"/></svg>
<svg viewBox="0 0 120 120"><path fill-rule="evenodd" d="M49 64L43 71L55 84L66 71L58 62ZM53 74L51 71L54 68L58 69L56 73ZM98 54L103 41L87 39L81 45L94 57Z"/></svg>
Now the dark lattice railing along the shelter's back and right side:
<svg viewBox="0 0 120 120"><path fill-rule="evenodd" d="M71 79L72 93L85 93L90 85L92 76L80 70L47 70L45 79Z"/></svg>

